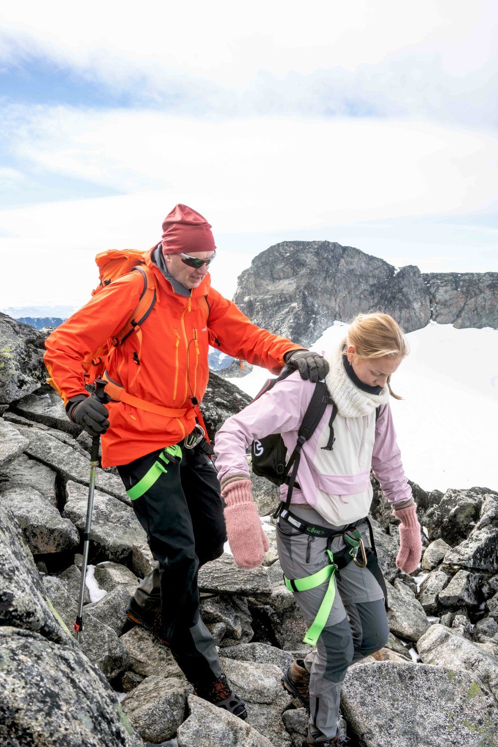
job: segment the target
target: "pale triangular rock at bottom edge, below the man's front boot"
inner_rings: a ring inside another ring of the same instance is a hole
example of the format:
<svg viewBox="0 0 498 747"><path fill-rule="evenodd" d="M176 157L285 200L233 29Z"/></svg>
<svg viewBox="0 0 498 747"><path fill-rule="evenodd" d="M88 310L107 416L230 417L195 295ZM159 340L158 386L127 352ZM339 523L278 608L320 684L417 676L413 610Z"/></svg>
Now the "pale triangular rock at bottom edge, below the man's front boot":
<svg viewBox="0 0 498 747"><path fill-rule="evenodd" d="M272 747L267 737L232 713L189 695L190 716L178 728L178 747Z"/></svg>

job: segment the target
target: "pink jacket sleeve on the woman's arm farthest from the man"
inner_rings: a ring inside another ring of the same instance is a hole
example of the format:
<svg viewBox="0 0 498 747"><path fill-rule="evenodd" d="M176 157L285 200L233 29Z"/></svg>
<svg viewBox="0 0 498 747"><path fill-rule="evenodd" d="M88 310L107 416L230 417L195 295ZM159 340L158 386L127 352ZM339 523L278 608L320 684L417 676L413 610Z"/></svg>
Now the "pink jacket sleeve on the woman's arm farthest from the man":
<svg viewBox="0 0 498 747"><path fill-rule="evenodd" d="M389 503L405 502L411 498L411 487L403 471L401 452L396 444L396 432L388 404L381 407L376 423L372 471L379 480ZM393 508L396 506L394 505Z"/></svg>

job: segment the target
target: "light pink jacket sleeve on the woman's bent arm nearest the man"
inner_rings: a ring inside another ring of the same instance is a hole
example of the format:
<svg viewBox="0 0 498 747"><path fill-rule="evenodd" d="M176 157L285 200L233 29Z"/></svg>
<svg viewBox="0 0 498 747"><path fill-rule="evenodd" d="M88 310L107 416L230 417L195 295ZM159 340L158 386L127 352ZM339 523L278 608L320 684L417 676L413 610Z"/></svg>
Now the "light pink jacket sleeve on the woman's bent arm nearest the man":
<svg viewBox="0 0 498 747"><path fill-rule="evenodd" d="M314 385L302 382L296 371L228 418L214 439L218 479L221 481L233 472L246 472L249 477L246 456L249 444L271 433L299 430L313 390Z"/></svg>

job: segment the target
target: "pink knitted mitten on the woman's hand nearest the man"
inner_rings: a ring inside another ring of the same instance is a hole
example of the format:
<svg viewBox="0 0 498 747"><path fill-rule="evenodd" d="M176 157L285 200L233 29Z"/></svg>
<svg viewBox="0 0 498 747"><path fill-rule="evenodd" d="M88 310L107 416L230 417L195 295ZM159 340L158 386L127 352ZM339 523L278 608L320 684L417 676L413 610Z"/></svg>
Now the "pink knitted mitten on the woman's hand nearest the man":
<svg viewBox="0 0 498 747"><path fill-rule="evenodd" d="M234 560L240 568L257 568L268 551L268 539L252 500L251 480L234 480L222 489L226 532Z"/></svg>

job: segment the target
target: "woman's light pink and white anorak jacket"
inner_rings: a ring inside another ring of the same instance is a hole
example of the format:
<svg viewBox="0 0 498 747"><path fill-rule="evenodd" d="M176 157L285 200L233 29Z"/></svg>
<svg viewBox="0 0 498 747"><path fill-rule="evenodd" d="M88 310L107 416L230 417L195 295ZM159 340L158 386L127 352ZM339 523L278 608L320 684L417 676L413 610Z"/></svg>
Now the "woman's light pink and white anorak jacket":
<svg viewBox="0 0 498 747"><path fill-rule="evenodd" d="M249 477L246 450L252 441L271 433L281 433L288 458L313 390L314 384L296 372L228 418L214 445L220 481L236 472ZM357 418L336 415L334 447L326 451L322 447L329 439L331 413L332 405L328 405L302 448L296 478L300 489L294 489L292 503L309 503L331 524L357 521L367 515L372 502L370 468L393 508L409 500L411 487L403 472L389 405L381 406L377 423L375 409L372 415ZM286 498L287 486L283 485L281 499Z"/></svg>

